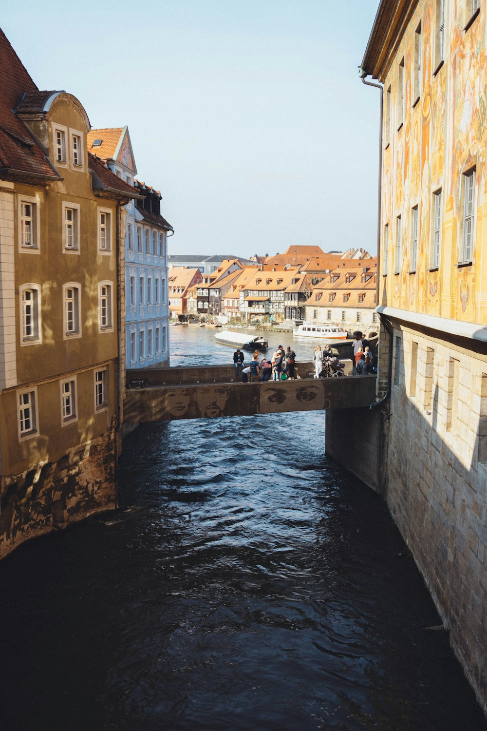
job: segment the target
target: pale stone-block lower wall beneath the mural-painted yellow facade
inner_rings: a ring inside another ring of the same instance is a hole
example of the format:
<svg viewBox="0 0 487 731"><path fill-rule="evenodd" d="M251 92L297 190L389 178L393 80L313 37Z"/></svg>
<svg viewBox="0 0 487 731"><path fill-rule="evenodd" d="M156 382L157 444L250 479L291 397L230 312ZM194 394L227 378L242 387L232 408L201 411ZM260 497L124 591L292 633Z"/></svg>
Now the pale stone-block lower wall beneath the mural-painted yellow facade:
<svg viewBox="0 0 487 731"><path fill-rule="evenodd" d="M383 490L487 711L487 355L446 337L394 328Z"/></svg>

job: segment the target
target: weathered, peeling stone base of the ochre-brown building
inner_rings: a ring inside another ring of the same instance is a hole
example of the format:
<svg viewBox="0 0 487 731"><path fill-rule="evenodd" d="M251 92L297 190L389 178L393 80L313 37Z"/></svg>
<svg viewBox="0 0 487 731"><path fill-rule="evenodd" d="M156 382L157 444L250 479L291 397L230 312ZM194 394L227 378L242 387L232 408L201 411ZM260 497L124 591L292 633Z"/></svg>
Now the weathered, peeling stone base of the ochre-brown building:
<svg viewBox="0 0 487 731"><path fill-rule="evenodd" d="M0 558L29 538L115 507L114 439L112 432L57 462L1 477Z"/></svg>

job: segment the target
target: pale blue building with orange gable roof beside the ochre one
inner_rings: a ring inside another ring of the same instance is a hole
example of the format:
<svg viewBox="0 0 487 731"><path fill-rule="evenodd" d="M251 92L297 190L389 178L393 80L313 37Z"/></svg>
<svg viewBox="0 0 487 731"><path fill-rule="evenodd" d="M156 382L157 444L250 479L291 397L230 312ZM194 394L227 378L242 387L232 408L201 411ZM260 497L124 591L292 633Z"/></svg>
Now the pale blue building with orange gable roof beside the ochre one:
<svg viewBox="0 0 487 731"><path fill-rule="evenodd" d="M126 368L169 366L167 237L173 230L161 216L161 194L135 178L126 126L92 129L88 150L139 192L125 207Z"/></svg>

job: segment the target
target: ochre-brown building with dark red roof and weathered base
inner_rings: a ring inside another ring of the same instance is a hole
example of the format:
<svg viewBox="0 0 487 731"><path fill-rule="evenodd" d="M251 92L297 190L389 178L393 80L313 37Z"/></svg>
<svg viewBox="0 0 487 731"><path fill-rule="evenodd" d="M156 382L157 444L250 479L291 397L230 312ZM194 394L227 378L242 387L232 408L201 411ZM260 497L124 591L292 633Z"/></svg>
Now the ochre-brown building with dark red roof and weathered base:
<svg viewBox="0 0 487 731"><path fill-rule="evenodd" d="M1 31L0 67L2 556L115 504L119 232L137 192L88 154L80 102L39 91Z"/></svg>

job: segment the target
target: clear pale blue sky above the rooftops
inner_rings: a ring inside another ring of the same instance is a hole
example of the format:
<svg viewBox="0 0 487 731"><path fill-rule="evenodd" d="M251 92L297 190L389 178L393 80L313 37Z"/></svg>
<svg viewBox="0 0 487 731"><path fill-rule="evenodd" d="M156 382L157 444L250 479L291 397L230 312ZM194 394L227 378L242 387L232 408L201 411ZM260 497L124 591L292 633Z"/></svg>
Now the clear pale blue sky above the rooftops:
<svg viewBox="0 0 487 731"><path fill-rule="evenodd" d="M377 250L379 0L24 0L1 28L40 89L129 127L169 254Z"/></svg>

